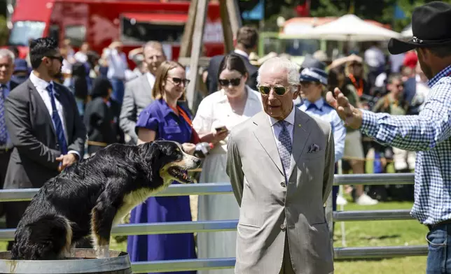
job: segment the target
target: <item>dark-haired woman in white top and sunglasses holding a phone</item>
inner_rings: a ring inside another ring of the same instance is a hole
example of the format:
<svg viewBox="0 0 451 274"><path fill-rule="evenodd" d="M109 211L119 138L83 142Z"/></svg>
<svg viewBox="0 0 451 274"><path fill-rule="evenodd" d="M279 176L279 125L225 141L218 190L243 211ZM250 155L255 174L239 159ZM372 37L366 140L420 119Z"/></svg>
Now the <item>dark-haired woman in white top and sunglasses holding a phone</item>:
<svg viewBox="0 0 451 274"><path fill-rule="evenodd" d="M263 110L261 95L246 85L248 73L241 58L233 53L225 55L218 72L221 90L202 100L193 120L193 128L200 139L214 143L213 150L204 159L199 182L230 182L225 173L228 133ZM236 220L239 217L240 208L232 193L199 196L198 220ZM235 241L235 231L198 233L197 256L235 257ZM233 273L233 268L211 273Z"/></svg>

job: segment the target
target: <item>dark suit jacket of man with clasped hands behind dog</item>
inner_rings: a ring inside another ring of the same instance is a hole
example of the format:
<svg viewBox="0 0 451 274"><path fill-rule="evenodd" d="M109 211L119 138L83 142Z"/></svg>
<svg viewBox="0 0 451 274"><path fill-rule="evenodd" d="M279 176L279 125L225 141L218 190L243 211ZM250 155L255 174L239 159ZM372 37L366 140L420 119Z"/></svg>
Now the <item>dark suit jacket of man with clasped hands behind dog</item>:
<svg viewBox="0 0 451 274"><path fill-rule="evenodd" d="M74 96L54 83L55 97L64 109L68 150L83 157L86 129ZM53 120L31 80L16 87L6 99L6 127L14 149L6 172L5 189L41 187L58 174L60 151Z"/></svg>

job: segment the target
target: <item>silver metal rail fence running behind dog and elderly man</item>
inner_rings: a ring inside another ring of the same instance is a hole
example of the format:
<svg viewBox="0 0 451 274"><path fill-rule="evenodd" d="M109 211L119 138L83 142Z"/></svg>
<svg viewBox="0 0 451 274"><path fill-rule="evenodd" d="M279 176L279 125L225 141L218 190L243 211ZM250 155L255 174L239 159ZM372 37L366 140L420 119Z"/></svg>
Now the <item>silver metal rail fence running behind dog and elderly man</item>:
<svg viewBox="0 0 451 274"><path fill-rule="evenodd" d="M335 175L334 185L403 185L413 183L412 173L394 174L358 174ZM39 189L4 189L0 190L0 202L29 201ZM171 185L155 196L184 196L231 194L229 182L199 183L193 185ZM372 220L405 220L412 219L410 210L361 210L335 211L336 222L372 221ZM113 236L193 233L214 231L235 231L237 220L170 222L151 224L121 224L113 227ZM15 229L0 229L0 240L13 240ZM405 256L424 256L427 245L393 246L393 247L336 247L335 259L367 259ZM174 261L142 261L132 263L134 273L172 272L233 268L235 258L189 259Z"/></svg>

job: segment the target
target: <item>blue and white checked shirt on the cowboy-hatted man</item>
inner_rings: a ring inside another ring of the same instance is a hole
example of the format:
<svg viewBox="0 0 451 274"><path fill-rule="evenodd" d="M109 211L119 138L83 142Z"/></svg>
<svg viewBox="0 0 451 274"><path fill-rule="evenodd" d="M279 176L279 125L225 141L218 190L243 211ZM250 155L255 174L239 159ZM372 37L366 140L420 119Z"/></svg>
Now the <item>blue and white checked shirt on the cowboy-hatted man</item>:
<svg viewBox="0 0 451 274"><path fill-rule="evenodd" d="M451 219L451 66L428 82L419 115L363 111L361 131L377 142L417 151L415 203L410 215L422 224Z"/></svg>

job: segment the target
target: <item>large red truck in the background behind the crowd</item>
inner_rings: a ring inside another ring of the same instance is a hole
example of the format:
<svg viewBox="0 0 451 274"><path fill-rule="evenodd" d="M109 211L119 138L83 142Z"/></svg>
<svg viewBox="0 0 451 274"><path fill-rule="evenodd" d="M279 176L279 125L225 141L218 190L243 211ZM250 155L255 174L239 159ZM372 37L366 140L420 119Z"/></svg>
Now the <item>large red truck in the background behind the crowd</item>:
<svg viewBox="0 0 451 274"><path fill-rule="evenodd" d="M160 41L169 59L179 57L190 1L170 0L17 0L8 45L27 55L30 38L70 38L75 48L84 41L99 54L115 40L128 53L146 41ZM223 54L219 3L210 1L204 28L207 56Z"/></svg>

